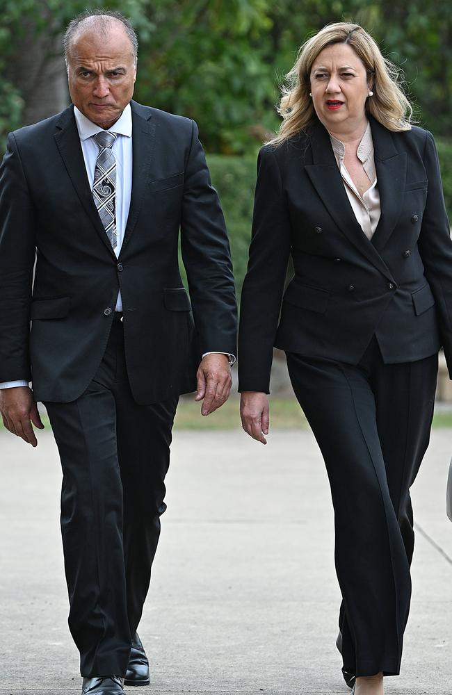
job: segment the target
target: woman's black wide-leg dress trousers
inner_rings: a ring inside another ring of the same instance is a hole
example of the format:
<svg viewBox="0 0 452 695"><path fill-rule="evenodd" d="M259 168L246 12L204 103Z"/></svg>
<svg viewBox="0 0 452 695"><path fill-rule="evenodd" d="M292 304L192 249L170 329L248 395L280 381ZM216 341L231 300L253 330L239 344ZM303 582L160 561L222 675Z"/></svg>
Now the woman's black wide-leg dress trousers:
<svg viewBox="0 0 452 695"><path fill-rule="evenodd" d="M344 670L397 675L411 596L410 485L430 437L437 354L385 364L373 338L357 366L286 357L330 480Z"/></svg>

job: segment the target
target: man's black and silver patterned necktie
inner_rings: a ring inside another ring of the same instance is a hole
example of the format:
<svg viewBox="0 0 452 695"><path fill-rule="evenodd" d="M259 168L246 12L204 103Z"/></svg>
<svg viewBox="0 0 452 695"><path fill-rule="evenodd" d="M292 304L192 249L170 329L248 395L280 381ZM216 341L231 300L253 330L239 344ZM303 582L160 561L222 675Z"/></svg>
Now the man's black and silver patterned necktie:
<svg viewBox="0 0 452 695"><path fill-rule="evenodd" d="M92 195L97 207L97 212L105 227L106 236L113 249L118 244L116 232L116 159L111 146L116 140L115 133L101 131L93 138L99 145L96 167L94 170L94 184Z"/></svg>

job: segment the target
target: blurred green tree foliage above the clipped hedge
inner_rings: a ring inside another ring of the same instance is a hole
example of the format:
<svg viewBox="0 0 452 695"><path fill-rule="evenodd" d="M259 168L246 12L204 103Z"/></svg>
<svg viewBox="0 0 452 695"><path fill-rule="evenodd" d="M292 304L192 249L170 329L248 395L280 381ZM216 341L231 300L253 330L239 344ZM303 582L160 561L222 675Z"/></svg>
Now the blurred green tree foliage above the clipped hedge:
<svg viewBox="0 0 452 695"><path fill-rule="evenodd" d="M254 152L277 128L279 86L305 39L329 22L363 24L406 74L422 125L449 134L450 0L92 0L138 31L136 98L195 118L208 152ZM86 0L0 0L0 138L16 127L21 85L8 83L21 38L60 35ZM28 47L28 46L27 46ZM33 50L33 44L30 44Z"/></svg>

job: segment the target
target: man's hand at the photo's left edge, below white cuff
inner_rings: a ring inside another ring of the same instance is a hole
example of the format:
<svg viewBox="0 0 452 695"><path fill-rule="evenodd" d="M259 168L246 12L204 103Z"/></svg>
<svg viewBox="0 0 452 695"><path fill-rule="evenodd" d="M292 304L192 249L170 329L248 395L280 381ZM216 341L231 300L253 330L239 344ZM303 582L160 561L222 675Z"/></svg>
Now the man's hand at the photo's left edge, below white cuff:
<svg viewBox="0 0 452 695"><path fill-rule="evenodd" d="M28 386L0 389L0 413L7 430L17 434L27 444L38 446L31 423L40 430L44 429L44 425L33 399L33 391Z"/></svg>

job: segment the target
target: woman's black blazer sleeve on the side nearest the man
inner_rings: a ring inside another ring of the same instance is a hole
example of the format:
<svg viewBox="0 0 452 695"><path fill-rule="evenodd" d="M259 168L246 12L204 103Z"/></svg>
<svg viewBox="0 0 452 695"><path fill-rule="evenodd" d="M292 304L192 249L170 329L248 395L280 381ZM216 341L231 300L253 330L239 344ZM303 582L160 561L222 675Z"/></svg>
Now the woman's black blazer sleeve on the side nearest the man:
<svg viewBox="0 0 452 695"><path fill-rule="evenodd" d="M257 159L248 272L239 330L239 391L270 393L273 345L291 250L291 224L280 167L264 146Z"/></svg>

